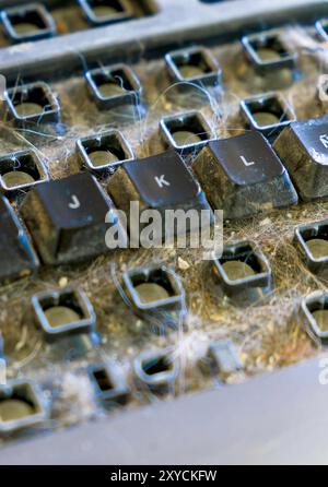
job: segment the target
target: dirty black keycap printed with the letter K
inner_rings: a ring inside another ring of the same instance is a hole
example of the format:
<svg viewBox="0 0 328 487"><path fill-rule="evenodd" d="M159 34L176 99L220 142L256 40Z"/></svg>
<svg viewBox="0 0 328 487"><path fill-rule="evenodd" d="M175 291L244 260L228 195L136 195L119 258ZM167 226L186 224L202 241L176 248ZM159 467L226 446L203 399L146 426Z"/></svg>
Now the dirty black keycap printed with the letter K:
<svg viewBox="0 0 328 487"><path fill-rule="evenodd" d="M154 209L161 213L177 209L210 210L201 188L175 151L125 163L109 180L108 192L127 215L132 201L139 201L141 210Z"/></svg>

